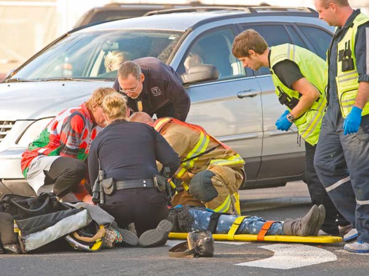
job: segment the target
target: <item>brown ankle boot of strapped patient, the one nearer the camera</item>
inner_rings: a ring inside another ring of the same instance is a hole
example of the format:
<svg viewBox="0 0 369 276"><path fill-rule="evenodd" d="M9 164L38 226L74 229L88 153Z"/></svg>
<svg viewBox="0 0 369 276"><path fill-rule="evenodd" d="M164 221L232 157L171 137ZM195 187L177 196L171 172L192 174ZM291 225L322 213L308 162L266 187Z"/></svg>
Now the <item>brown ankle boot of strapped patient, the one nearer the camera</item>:
<svg viewBox="0 0 369 276"><path fill-rule="evenodd" d="M284 234L288 236L309 236L319 222L319 214L318 206L314 205L304 217L284 220Z"/></svg>

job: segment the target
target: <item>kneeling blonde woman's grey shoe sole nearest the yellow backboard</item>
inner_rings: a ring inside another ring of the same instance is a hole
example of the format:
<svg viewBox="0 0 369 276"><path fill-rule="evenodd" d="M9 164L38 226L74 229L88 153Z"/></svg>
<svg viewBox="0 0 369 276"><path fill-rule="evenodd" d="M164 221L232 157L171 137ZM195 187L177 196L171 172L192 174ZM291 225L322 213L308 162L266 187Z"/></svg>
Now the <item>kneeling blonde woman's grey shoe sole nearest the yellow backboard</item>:
<svg viewBox="0 0 369 276"><path fill-rule="evenodd" d="M142 233L138 239L141 247L155 247L163 245L168 240L168 234L172 230L173 224L169 220L162 220L156 229L150 229Z"/></svg>

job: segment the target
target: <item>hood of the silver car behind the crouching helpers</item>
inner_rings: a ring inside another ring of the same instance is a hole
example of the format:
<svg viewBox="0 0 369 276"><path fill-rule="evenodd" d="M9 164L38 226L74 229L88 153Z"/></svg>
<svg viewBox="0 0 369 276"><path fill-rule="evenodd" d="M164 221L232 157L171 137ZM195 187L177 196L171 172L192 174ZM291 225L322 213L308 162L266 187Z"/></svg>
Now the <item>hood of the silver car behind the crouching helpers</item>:
<svg viewBox="0 0 369 276"><path fill-rule="evenodd" d="M37 120L79 106L106 81L46 81L0 84L0 121Z"/></svg>

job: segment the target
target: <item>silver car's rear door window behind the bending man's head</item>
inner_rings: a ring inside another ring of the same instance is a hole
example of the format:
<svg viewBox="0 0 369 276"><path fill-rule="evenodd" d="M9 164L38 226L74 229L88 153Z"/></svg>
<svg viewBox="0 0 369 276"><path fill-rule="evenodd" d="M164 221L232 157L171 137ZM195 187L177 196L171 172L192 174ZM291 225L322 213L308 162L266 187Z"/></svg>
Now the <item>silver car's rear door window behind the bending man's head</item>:
<svg viewBox="0 0 369 276"><path fill-rule="evenodd" d="M283 25L243 25L242 29L244 31L247 29L254 29L265 39L269 47L284 43L292 43ZM261 67L258 71L254 71L254 74L256 76L269 75L270 70L269 68Z"/></svg>

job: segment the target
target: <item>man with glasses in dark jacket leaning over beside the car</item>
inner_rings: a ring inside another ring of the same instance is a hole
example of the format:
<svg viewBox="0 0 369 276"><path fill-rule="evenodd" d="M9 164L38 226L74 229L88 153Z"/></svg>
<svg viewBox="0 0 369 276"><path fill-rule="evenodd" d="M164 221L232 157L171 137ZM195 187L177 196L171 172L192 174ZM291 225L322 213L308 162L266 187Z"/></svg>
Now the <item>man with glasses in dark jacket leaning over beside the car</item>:
<svg viewBox="0 0 369 276"><path fill-rule="evenodd" d="M131 113L142 111L185 121L190 110L190 98L179 75L155 57L124 62L113 88L127 96Z"/></svg>

